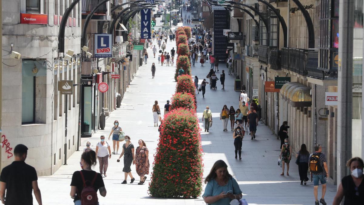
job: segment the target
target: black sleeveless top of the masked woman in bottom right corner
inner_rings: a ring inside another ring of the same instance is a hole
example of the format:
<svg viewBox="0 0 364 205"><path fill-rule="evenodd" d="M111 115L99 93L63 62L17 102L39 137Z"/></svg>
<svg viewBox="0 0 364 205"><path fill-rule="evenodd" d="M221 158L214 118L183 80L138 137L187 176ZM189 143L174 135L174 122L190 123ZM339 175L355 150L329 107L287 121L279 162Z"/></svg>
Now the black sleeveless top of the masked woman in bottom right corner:
<svg viewBox="0 0 364 205"><path fill-rule="evenodd" d="M341 179L341 185L344 189L344 205L360 205L364 201L364 179L361 181L359 187L355 186L351 175L345 176Z"/></svg>

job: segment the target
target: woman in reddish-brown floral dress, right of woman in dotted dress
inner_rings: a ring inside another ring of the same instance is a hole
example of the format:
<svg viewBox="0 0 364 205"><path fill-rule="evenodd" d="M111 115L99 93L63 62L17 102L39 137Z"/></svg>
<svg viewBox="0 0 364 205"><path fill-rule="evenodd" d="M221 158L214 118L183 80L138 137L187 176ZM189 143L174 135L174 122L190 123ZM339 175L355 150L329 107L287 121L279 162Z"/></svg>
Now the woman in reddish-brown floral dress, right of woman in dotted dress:
<svg viewBox="0 0 364 205"><path fill-rule="evenodd" d="M149 151L145 142L143 140L138 141L139 146L135 150L135 160L136 160L136 167L137 167L137 174L140 177L140 182L138 185L142 185L147 177L144 175L149 174Z"/></svg>

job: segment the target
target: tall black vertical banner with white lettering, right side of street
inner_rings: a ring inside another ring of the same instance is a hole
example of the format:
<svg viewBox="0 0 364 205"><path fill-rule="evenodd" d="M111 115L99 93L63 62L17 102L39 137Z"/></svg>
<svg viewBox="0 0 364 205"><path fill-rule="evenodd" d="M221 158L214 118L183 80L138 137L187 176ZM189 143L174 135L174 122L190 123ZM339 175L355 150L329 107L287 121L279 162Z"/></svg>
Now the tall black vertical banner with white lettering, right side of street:
<svg viewBox="0 0 364 205"><path fill-rule="evenodd" d="M224 35L224 29L227 29L227 13L226 10L214 10L214 39L213 48L214 56L218 56L219 60L226 58L227 36Z"/></svg>

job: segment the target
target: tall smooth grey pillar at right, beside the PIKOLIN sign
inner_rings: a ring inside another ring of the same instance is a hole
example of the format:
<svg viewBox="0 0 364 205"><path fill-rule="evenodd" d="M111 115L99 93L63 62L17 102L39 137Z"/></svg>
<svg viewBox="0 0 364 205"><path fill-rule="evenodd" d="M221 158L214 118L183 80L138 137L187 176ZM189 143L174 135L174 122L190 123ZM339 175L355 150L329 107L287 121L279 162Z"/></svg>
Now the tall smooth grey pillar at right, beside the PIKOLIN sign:
<svg viewBox="0 0 364 205"><path fill-rule="evenodd" d="M352 156L352 76L354 1L339 3L339 68L337 112L337 180L349 174L345 163Z"/></svg>

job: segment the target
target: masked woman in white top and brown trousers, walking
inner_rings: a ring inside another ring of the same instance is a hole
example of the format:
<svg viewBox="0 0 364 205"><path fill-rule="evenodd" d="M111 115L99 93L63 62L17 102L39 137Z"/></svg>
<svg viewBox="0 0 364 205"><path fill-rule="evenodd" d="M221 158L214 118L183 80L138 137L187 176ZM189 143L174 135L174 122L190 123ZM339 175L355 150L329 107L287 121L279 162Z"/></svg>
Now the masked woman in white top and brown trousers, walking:
<svg viewBox="0 0 364 205"><path fill-rule="evenodd" d="M100 142L96 144L96 155L99 159L100 174L104 171L104 176L107 177L106 171L109 165L108 159L111 158L110 145L105 141L105 136L100 136Z"/></svg>

